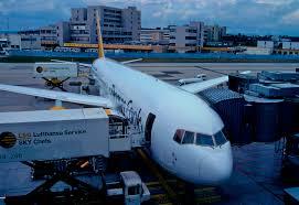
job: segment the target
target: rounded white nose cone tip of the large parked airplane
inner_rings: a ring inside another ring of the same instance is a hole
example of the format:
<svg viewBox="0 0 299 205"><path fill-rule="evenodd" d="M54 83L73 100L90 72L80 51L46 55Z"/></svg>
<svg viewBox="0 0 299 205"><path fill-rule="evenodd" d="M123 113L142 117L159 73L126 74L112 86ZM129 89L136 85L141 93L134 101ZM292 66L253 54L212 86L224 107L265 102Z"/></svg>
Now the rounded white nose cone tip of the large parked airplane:
<svg viewBox="0 0 299 205"><path fill-rule="evenodd" d="M233 172L232 155L213 155L203 159L199 175L206 184L220 185L227 181Z"/></svg>

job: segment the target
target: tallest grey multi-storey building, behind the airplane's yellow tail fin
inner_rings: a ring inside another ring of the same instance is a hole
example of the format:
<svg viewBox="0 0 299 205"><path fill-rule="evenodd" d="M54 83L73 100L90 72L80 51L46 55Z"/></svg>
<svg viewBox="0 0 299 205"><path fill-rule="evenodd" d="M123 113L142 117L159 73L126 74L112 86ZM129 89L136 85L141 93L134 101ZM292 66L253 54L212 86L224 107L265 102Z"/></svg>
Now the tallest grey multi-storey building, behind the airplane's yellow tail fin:
<svg viewBox="0 0 299 205"><path fill-rule="evenodd" d="M141 12L136 7L118 9L105 6L73 8L70 20L73 43L97 43L96 12L99 12L104 43L140 41Z"/></svg>

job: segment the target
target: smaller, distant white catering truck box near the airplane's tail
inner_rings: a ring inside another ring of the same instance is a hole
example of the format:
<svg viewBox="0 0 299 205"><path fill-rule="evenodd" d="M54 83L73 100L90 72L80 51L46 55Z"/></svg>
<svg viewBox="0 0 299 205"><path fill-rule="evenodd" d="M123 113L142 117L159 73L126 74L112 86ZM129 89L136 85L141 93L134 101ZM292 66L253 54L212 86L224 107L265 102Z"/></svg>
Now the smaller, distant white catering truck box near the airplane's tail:
<svg viewBox="0 0 299 205"><path fill-rule="evenodd" d="M77 63L35 63L33 77L77 77Z"/></svg>

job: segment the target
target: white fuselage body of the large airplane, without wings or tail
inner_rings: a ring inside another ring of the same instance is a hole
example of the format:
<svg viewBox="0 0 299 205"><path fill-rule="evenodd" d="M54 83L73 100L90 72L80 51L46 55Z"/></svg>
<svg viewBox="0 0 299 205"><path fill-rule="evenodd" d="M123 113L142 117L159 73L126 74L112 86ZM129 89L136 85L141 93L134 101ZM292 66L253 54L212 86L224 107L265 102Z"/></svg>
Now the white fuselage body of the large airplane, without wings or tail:
<svg viewBox="0 0 299 205"><path fill-rule="evenodd" d="M209 147L173 140L178 129L211 137L223 129L218 115L200 97L107 58L96 60L93 72L108 93L140 110L143 127L149 114L156 116L150 149L162 168L194 184L220 184L229 179L233 160L228 141Z"/></svg>

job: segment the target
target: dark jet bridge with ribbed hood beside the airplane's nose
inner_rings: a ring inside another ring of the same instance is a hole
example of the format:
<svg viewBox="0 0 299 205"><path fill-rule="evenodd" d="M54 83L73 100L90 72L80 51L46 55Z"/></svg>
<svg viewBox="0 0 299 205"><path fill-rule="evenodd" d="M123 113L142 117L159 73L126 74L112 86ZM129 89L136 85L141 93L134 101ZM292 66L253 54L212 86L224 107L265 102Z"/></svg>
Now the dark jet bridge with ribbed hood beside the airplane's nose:
<svg viewBox="0 0 299 205"><path fill-rule="evenodd" d="M233 144L275 142L299 132L299 73L229 74L228 88L199 95L220 114Z"/></svg>

